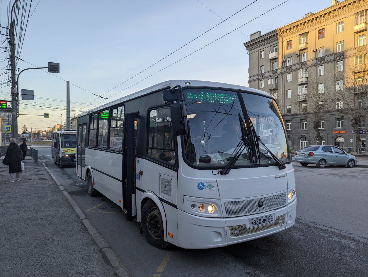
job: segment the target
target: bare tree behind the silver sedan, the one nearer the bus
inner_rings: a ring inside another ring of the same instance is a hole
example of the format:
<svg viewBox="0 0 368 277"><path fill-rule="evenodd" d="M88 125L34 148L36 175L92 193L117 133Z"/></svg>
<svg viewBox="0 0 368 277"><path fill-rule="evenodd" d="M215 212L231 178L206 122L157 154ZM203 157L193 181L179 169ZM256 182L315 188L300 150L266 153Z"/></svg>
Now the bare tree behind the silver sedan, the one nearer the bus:
<svg viewBox="0 0 368 277"><path fill-rule="evenodd" d="M313 129L316 132L317 144L322 144L322 137L319 131L323 112L331 109L332 105L329 102L330 86L325 86L325 83L319 83L316 77L308 77L308 84L298 87L298 97L292 98L293 105L299 107L299 113L305 114L313 121Z"/></svg>

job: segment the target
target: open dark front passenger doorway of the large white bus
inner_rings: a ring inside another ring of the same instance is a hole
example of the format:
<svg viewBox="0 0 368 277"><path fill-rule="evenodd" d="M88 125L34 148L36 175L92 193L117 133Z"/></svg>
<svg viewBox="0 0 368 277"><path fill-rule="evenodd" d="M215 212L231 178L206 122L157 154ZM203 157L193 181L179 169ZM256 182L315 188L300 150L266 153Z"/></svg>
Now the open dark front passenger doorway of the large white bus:
<svg viewBox="0 0 368 277"><path fill-rule="evenodd" d="M127 221L132 221L135 211L135 155L137 152L138 113L125 115L125 134L123 151L123 210Z"/></svg>

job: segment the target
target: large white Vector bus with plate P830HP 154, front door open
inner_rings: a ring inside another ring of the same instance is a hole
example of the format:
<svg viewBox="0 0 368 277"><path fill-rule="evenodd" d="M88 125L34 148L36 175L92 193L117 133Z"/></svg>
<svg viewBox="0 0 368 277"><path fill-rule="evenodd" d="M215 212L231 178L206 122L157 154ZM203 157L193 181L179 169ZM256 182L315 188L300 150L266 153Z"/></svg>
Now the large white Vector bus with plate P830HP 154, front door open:
<svg viewBox="0 0 368 277"><path fill-rule="evenodd" d="M78 116L77 174L152 245L221 247L286 230L296 189L273 96L173 80Z"/></svg>

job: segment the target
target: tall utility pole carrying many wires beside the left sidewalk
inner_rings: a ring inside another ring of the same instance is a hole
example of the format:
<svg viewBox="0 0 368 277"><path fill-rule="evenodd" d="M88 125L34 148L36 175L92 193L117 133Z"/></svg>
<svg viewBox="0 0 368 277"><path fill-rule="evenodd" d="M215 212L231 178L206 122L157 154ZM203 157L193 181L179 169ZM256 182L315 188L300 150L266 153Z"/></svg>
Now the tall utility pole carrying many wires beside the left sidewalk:
<svg viewBox="0 0 368 277"><path fill-rule="evenodd" d="M15 82L15 39L14 39L14 22L13 8L19 0L15 0L10 11L10 73L11 73L11 135L18 141L18 104L17 104L17 88Z"/></svg>

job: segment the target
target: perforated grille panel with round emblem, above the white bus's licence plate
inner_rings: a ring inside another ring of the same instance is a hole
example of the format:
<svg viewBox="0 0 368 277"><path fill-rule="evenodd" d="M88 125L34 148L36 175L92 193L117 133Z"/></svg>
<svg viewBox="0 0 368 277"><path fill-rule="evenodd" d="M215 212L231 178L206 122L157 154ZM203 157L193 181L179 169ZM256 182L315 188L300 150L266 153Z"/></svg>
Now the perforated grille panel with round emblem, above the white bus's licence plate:
<svg viewBox="0 0 368 277"><path fill-rule="evenodd" d="M258 203L261 203L261 207ZM225 201L226 216L244 216L246 214L259 213L273 210L286 205L286 192L270 195L262 198Z"/></svg>

